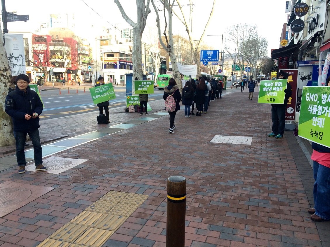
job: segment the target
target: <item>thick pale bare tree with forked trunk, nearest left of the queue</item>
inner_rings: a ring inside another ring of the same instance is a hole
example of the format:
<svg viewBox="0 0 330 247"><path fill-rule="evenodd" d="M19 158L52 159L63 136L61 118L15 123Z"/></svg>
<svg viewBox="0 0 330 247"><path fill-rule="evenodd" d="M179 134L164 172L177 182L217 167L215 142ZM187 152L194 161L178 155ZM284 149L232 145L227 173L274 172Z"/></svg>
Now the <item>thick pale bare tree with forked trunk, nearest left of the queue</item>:
<svg viewBox="0 0 330 247"><path fill-rule="evenodd" d="M149 3L150 0L136 0L137 21L132 21L124 9L122 8L119 0L114 0L124 20L133 27L133 80L138 78L142 80L142 34L146 27L147 17L150 13ZM134 92L134 83L132 83L132 92Z"/></svg>

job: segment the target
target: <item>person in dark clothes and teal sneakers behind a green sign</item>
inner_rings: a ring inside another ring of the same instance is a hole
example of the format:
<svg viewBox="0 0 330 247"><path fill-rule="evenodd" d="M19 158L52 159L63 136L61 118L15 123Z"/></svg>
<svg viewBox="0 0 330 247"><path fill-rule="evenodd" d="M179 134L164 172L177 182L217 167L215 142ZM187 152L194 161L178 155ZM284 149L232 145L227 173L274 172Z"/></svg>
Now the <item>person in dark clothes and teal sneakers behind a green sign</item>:
<svg viewBox="0 0 330 247"><path fill-rule="evenodd" d="M287 79L289 74L283 70L279 72L279 79ZM284 135L285 126L285 111L286 105L288 103L289 97L292 95L292 87L289 83L286 84L286 89L284 89L285 97L283 104L272 104L272 133L268 136L281 139Z"/></svg>

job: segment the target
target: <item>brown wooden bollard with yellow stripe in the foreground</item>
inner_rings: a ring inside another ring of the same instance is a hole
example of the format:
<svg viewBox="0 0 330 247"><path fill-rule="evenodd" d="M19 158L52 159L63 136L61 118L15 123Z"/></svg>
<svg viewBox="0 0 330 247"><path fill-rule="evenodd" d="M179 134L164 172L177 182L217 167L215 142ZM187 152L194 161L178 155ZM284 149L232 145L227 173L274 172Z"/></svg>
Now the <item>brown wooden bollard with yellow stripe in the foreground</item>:
<svg viewBox="0 0 330 247"><path fill-rule="evenodd" d="M187 180L167 178L166 247L184 247Z"/></svg>

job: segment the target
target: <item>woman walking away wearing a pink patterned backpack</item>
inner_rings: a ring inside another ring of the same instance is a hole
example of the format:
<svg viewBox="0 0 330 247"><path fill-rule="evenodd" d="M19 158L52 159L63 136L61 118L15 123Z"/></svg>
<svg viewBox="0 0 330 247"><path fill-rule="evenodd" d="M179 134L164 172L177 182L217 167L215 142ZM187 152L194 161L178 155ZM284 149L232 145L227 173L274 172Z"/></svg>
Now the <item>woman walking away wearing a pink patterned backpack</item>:
<svg viewBox="0 0 330 247"><path fill-rule="evenodd" d="M173 98L175 100L175 108L173 111L168 111L168 114L170 115L170 128L169 128L168 132L174 133L175 115L177 114L177 111L180 110L180 100L181 100L181 94L180 94L179 88L178 88L177 83L175 82L174 78L171 78L169 80L167 87L164 87L163 99L165 100L165 102L166 102L167 98L170 96L173 96ZM166 104L165 104L165 110L167 110Z"/></svg>

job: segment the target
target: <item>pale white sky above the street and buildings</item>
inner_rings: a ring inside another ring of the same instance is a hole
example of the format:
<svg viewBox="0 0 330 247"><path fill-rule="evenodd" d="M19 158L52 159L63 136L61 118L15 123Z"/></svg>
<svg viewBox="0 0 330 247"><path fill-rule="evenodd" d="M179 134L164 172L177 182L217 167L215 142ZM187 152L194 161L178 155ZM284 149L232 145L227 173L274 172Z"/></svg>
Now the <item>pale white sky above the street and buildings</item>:
<svg viewBox="0 0 330 247"><path fill-rule="evenodd" d="M73 20L74 27L69 27L75 31L76 35L86 38L91 45L95 43L95 37L102 35L105 28L130 28L128 23L122 18L117 5L113 0L56 0L51 4L44 0L5 0L6 11L15 12L18 15L29 15L27 22L8 22L7 27L10 32L36 31L40 26L46 26L49 22L50 14L68 15L68 19ZM136 22L136 1L119 0L126 14ZM157 0L156 0L157 1ZM199 40L211 12L213 0L192 0L193 1L193 38ZM283 23L286 22L285 13L286 0L216 0L215 11L207 27L205 35L223 35L223 49L225 47L227 27L236 24L257 25L258 34L268 41L268 56L271 49L280 48L280 36ZM189 4L189 0L180 0L180 4ZM174 6L179 12L179 7ZM183 6L186 10L186 17L189 15L189 6ZM151 13L147 18L148 27L156 29L155 11L150 3ZM162 18L163 14L160 14ZM175 17L176 18L176 17ZM71 21L70 21L71 22ZM72 25L72 23L70 23ZM179 20L174 20L173 33L186 36L183 24ZM1 29L3 23L1 22ZM41 28L46 31L46 29ZM163 30L164 27L161 28ZM146 31L147 32L147 31ZM94 41L93 41L94 40ZM221 37L205 37L204 42L213 46L214 49L221 50ZM227 47L231 47L227 43ZM234 48L234 46L232 45Z"/></svg>

